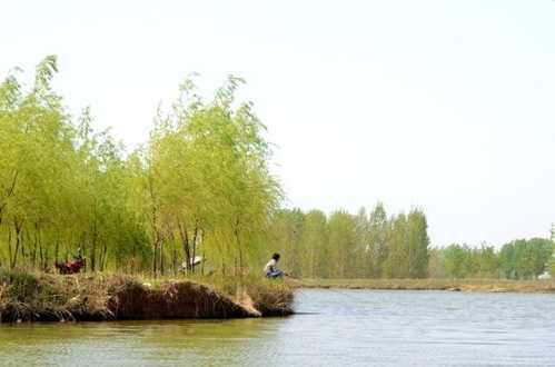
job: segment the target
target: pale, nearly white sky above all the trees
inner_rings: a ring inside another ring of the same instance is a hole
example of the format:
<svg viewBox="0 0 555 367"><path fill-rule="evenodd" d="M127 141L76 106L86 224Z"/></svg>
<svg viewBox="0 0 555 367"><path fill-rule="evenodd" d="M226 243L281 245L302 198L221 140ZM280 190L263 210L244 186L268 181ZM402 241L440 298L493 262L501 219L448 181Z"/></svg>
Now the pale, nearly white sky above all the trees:
<svg viewBox="0 0 555 367"><path fill-rule="evenodd" d="M0 78L57 54L129 149L198 72L247 85L288 207L423 209L434 246L555 222L555 1L2 0Z"/></svg>

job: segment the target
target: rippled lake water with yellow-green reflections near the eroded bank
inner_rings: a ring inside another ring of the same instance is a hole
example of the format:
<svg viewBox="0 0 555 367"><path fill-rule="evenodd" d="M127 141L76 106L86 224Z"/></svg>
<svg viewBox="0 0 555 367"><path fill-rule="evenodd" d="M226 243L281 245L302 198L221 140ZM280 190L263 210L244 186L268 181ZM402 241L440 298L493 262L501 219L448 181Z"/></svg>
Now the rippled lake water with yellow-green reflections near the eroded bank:
<svg viewBox="0 0 555 367"><path fill-rule="evenodd" d="M0 326L0 366L555 366L555 295L303 290L287 318Z"/></svg>

